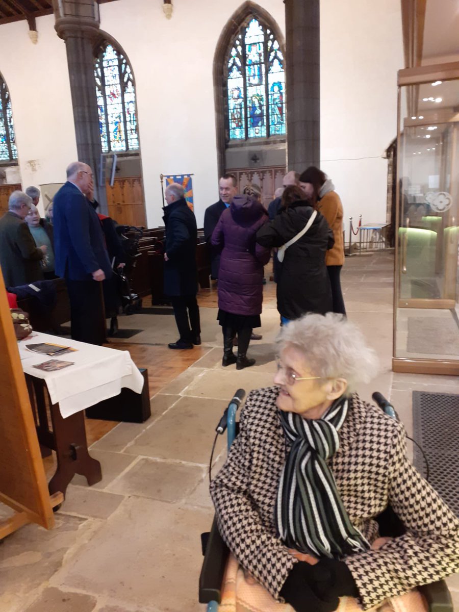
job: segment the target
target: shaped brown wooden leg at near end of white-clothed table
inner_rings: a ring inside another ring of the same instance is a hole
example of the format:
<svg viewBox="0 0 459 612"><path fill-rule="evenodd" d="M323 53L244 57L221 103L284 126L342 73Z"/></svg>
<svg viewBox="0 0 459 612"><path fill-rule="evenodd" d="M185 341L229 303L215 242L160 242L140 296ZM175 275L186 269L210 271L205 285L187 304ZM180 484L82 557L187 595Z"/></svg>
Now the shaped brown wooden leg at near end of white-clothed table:
<svg viewBox="0 0 459 612"><path fill-rule="evenodd" d="M56 473L48 485L50 493L62 491L65 496L67 485L75 474L85 476L90 486L100 482L102 480L100 463L93 459L88 452L84 412L76 412L72 416L62 419L59 405L53 404L51 405L51 421L53 423L58 469L56 469Z"/></svg>

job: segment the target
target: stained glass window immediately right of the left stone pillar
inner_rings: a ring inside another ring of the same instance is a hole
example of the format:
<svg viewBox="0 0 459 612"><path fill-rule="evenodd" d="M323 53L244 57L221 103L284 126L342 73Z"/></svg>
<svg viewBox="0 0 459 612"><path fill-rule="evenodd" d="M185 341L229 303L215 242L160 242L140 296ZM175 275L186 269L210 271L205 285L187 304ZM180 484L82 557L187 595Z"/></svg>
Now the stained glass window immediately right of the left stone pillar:
<svg viewBox="0 0 459 612"><path fill-rule="evenodd" d="M135 151L139 136L130 65L107 44L95 59L94 75L102 151Z"/></svg>

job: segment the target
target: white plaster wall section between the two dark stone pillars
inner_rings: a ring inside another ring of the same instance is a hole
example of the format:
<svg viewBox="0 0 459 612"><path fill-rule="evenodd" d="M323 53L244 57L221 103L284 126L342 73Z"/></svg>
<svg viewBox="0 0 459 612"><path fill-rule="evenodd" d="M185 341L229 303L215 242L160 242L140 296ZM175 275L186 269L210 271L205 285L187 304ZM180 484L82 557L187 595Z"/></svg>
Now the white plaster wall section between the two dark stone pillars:
<svg viewBox="0 0 459 612"><path fill-rule="evenodd" d="M194 173L198 227L218 200L212 67L218 37L241 0L119 0L100 6L100 27L129 57L136 82L148 225L162 225L159 175ZM285 31L284 4L259 2ZM129 7L129 8L128 8Z"/></svg>

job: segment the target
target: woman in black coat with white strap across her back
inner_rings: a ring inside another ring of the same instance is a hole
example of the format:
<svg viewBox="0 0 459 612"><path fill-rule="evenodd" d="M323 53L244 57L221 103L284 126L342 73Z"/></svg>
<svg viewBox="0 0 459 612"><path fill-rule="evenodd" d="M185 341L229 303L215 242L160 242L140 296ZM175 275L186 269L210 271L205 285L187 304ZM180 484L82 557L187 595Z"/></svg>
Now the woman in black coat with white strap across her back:
<svg viewBox="0 0 459 612"><path fill-rule="evenodd" d="M298 236L310 220L312 223L307 231ZM296 240L287 247L292 239ZM277 310L282 323L307 312L323 315L332 309L332 291L325 265L327 248L333 245L332 231L324 217L315 213L305 201L299 187L286 187L281 212L258 230L256 242L268 248L287 247L277 282Z"/></svg>

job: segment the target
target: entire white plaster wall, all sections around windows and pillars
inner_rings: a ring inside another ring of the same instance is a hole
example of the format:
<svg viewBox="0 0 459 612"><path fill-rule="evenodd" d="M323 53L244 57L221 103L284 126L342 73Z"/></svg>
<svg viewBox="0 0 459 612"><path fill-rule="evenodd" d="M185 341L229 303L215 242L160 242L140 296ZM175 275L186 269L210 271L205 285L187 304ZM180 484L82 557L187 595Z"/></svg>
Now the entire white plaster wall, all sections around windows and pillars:
<svg viewBox="0 0 459 612"><path fill-rule="evenodd" d="M218 37L242 0L119 0L100 6L101 28L118 40L136 79L149 226L162 223L159 175L193 173L195 213L218 198L212 65ZM285 6L259 0L285 32ZM403 65L399 0L321 0L321 157L345 207L365 222L386 218L384 150L397 129ZM0 26L0 71L13 103L23 185L60 182L76 159L64 42L54 18ZM14 53L12 53L14 50ZM37 160L37 163L34 163Z"/></svg>

